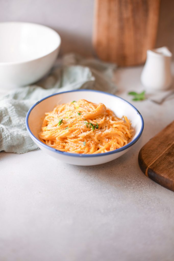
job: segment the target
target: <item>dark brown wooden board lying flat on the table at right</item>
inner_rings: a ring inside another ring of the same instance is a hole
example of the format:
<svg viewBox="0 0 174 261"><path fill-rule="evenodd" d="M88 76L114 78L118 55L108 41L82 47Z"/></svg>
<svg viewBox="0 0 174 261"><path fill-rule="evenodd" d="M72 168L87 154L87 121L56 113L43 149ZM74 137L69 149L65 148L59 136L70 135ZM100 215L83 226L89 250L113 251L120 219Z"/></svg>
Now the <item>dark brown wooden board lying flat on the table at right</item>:
<svg viewBox="0 0 174 261"><path fill-rule="evenodd" d="M141 148L138 162L145 175L174 191L174 121Z"/></svg>

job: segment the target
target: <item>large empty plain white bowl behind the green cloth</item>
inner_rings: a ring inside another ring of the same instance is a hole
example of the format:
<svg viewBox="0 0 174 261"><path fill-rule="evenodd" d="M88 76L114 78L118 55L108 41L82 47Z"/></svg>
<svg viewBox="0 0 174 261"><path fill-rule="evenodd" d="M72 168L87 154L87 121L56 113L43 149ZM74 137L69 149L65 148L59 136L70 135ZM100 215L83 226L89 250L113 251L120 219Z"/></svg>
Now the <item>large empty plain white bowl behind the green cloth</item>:
<svg viewBox="0 0 174 261"><path fill-rule="evenodd" d="M0 87L18 87L41 79L53 66L61 39L34 23L0 23Z"/></svg>

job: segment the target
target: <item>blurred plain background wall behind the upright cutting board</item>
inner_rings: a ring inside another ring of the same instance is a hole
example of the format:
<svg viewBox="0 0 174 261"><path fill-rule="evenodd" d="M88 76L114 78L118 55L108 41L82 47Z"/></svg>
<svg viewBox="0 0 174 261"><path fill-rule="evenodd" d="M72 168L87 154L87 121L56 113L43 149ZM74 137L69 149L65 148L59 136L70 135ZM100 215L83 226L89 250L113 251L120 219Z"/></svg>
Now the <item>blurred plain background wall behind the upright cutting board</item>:
<svg viewBox="0 0 174 261"><path fill-rule="evenodd" d="M61 54L94 54L93 13L94 0L0 0L1 22L27 21L52 27L61 35ZM156 46L163 45L174 54L174 0L161 0Z"/></svg>

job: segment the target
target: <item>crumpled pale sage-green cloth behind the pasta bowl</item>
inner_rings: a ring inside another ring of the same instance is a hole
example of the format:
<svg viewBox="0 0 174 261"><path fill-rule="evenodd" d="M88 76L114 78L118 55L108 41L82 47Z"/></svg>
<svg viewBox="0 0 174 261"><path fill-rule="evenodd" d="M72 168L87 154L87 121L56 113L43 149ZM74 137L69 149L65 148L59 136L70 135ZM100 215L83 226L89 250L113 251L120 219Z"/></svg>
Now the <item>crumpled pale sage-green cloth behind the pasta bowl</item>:
<svg viewBox="0 0 174 261"><path fill-rule="evenodd" d="M36 85L15 89L0 100L0 151L25 153L37 149L25 127L25 117L38 100L62 91L95 89L115 93L115 64L65 55Z"/></svg>

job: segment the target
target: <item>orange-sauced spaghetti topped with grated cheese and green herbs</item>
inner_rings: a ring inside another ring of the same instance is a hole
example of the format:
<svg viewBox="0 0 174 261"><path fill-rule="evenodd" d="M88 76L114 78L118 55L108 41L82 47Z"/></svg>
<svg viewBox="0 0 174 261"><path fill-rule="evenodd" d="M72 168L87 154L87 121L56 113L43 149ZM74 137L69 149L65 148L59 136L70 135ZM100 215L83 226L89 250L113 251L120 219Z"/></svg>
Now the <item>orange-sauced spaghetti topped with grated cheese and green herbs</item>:
<svg viewBox="0 0 174 261"><path fill-rule="evenodd" d="M84 99L58 105L45 115L40 139L70 153L112 151L126 145L133 132L126 116L120 119L104 104Z"/></svg>

